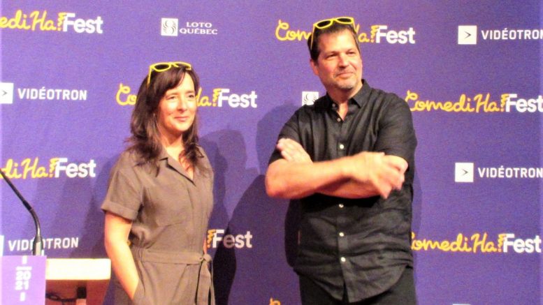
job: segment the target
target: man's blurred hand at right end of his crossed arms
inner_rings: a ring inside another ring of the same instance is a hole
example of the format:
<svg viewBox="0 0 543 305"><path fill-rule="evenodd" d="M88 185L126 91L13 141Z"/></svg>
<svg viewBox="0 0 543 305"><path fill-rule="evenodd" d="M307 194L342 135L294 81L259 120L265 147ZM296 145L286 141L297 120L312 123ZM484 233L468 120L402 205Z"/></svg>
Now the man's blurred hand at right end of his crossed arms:
<svg viewBox="0 0 543 305"><path fill-rule="evenodd" d="M345 169L352 179L370 184L379 195L387 198L392 190L402 188L407 162L398 156L363 151L351 156Z"/></svg>

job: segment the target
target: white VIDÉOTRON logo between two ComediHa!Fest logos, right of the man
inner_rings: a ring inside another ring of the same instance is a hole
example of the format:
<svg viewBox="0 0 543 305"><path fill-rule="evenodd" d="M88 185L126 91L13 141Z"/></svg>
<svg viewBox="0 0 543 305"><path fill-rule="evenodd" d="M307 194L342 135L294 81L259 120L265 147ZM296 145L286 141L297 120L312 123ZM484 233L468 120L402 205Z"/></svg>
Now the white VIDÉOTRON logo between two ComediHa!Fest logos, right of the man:
<svg viewBox="0 0 543 305"><path fill-rule="evenodd" d="M457 162L454 165L455 182L474 182L477 179L542 179L543 168L521 166L475 167L475 163Z"/></svg>

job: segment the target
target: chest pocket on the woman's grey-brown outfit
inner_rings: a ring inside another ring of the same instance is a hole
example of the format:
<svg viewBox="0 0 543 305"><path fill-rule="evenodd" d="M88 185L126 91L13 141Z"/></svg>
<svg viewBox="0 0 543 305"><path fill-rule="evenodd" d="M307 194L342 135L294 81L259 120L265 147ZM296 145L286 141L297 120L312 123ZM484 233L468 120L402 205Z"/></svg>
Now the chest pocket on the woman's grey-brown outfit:
<svg viewBox="0 0 543 305"><path fill-rule="evenodd" d="M182 183L147 188L143 217L158 226L184 223L192 215L189 190Z"/></svg>

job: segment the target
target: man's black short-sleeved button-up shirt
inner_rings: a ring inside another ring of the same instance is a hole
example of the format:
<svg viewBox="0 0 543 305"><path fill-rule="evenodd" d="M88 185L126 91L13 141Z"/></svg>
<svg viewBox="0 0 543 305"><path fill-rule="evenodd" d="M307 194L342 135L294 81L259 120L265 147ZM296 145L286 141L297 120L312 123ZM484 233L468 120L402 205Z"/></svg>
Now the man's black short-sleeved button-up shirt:
<svg viewBox="0 0 543 305"><path fill-rule="evenodd" d="M410 109L401 98L362 89L349 100L342 120L326 95L303 106L284 125L280 138L299 142L313 162L382 151L409 164L405 183L386 200L379 196L337 198L315 193L301 200L298 257L294 269L312 278L336 299L344 284L349 302L378 295L412 267L410 232L414 150ZM270 163L282 158L277 149Z"/></svg>

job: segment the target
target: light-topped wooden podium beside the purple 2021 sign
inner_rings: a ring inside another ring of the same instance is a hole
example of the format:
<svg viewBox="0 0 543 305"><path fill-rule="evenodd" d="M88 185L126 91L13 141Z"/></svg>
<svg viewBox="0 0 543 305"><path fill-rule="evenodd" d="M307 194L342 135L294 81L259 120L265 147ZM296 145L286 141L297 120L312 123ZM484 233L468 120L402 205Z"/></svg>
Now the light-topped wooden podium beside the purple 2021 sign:
<svg viewBox="0 0 543 305"><path fill-rule="evenodd" d="M45 292L61 299L86 297L87 305L101 305L110 276L111 261L108 258L48 258L45 262ZM45 299L45 304L60 303Z"/></svg>

